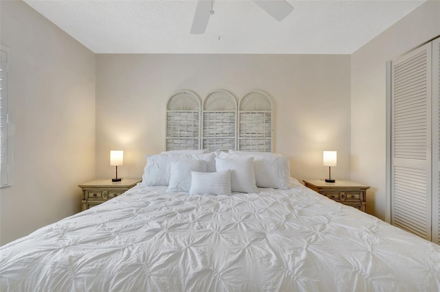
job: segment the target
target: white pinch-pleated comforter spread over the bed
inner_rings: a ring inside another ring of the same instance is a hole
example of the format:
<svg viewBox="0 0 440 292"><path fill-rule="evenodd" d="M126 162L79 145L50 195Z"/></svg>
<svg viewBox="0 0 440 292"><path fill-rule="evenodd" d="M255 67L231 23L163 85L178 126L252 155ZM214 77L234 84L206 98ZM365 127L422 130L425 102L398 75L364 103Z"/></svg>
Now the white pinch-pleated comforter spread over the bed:
<svg viewBox="0 0 440 292"><path fill-rule="evenodd" d="M0 248L1 291L440 291L440 247L297 185L136 186Z"/></svg>

